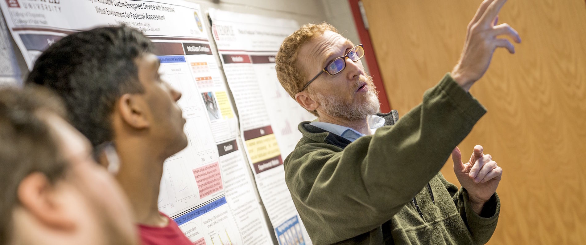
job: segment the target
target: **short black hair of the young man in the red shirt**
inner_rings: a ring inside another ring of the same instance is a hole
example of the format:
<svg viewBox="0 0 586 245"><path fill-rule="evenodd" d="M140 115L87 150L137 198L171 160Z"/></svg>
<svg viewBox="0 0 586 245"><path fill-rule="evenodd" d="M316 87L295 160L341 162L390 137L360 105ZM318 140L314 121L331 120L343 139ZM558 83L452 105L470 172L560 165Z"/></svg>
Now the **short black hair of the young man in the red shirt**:
<svg viewBox="0 0 586 245"><path fill-rule="evenodd" d="M27 82L62 96L69 121L96 147L114 137L110 116L120 96L144 92L135 58L152 49L142 32L127 26L73 33L43 52Z"/></svg>

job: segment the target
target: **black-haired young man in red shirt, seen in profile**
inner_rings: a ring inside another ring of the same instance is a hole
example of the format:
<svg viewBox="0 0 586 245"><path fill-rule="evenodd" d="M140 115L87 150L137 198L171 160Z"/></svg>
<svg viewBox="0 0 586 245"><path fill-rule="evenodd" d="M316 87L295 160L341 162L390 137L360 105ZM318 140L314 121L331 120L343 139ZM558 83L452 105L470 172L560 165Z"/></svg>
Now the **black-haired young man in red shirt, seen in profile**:
<svg viewBox="0 0 586 245"><path fill-rule="evenodd" d="M152 52L151 41L127 26L73 33L43 52L27 82L54 89L100 159L116 159L143 244L191 245L157 206L163 162L188 142L181 93L161 79Z"/></svg>

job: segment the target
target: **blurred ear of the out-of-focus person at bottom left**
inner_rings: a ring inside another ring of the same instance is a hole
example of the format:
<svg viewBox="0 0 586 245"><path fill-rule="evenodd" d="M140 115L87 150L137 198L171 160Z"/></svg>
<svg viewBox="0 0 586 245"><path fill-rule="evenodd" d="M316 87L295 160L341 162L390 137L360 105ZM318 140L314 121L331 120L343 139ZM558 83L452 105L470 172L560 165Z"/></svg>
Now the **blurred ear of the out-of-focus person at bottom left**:
<svg viewBox="0 0 586 245"><path fill-rule="evenodd" d="M33 217L53 229L74 230L73 217L67 215L67 207L59 201L55 186L40 172L29 174L18 185L18 201Z"/></svg>

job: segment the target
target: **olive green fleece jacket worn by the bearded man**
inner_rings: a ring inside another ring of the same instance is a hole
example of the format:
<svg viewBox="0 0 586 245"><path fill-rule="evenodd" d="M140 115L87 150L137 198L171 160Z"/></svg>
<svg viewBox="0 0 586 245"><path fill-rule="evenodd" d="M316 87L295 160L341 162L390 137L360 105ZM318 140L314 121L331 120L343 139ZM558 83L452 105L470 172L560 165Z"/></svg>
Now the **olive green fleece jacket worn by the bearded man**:
<svg viewBox="0 0 586 245"><path fill-rule="evenodd" d="M314 244L483 244L496 228L493 195L480 215L439 172L486 113L449 74L401 120L350 143L302 122L285 181Z"/></svg>

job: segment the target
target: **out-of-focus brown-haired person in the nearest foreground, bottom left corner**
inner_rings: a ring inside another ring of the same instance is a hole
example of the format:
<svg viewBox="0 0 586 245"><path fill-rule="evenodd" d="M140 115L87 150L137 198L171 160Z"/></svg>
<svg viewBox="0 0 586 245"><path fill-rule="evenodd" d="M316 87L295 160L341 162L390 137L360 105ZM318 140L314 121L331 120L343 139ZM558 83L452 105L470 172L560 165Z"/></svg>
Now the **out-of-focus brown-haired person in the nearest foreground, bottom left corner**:
<svg viewBox="0 0 586 245"><path fill-rule="evenodd" d="M130 203L47 91L0 90L0 244L137 244Z"/></svg>

